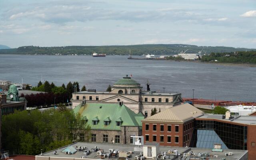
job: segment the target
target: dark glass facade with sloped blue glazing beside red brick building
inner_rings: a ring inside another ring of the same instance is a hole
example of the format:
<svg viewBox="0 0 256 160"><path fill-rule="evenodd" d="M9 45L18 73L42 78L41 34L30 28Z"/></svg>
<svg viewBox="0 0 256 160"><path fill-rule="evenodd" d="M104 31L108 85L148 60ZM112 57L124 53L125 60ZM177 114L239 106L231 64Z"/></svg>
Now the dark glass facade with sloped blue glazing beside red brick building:
<svg viewBox="0 0 256 160"><path fill-rule="evenodd" d="M222 144L222 149L247 150L247 126L229 121L195 120L190 146L213 148L214 144Z"/></svg>

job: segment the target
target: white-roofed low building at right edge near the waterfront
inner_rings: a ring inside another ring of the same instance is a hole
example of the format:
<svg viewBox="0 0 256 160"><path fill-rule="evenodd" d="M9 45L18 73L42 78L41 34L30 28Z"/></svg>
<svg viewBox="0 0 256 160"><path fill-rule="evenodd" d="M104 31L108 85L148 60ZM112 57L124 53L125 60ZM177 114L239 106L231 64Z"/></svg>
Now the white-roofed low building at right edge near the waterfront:
<svg viewBox="0 0 256 160"><path fill-rule="evenodd" d="M234 115L247 116L256 111L256 106L243 106L240 104L238 106L229 106L227 109Z"/></svg>

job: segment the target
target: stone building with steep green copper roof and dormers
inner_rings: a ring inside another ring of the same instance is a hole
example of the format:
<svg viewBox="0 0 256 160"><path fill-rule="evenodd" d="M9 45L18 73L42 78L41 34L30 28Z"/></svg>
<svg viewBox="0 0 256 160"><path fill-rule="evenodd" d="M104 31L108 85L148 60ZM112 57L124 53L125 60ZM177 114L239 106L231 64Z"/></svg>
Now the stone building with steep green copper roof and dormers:
<svg viewBox="0 0 256 160"><path fill-rule="evenodd" d="M124 104L79 104L73 109L80 113L84 124L91 127L90 142L133 144L133 136L141 136L141 120L144 115L134 113ZM85 140L83 132L79 135L80 141Z"/></svg>

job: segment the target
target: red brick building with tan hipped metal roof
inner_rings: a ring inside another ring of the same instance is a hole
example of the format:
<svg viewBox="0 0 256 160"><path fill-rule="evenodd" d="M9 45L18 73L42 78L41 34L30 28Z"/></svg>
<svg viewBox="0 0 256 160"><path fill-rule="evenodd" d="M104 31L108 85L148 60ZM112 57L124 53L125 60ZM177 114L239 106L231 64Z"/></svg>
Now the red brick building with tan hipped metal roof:
<svg viewBox="0 0 256 160"><path fill-rule="evenodd" d="M190 144L194 118L204 112L190 104L168 108L142 120L145 142L159 142L160 146L184 147Z"/></svg>

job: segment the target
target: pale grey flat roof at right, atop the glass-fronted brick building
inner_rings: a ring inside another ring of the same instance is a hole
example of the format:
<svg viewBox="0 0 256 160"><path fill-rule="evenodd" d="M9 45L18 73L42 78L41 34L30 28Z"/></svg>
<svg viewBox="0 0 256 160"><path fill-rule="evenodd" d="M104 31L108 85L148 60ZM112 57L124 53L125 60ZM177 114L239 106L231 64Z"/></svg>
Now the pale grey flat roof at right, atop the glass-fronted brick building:
<svg viewBox="0 0 256 160"><path fill-rule="evenodd" d="M223 119L223 116L220 114L204 114L198 118L203 119L217 119L217 120L223 120L227 122L236 122L240 124L251 124L256 125L256 116L232 116L230 119Z"/></svg>

